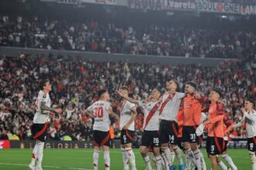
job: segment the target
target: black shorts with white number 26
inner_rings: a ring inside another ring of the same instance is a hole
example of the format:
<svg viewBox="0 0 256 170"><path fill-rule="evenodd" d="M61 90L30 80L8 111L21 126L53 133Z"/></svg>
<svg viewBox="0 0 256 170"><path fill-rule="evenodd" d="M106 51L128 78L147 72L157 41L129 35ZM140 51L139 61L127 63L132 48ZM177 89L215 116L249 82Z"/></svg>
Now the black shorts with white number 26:
<svg viewBox="0 0 256 170"><path fill-rule="evenodd" d="M160 146L158 131L144 131L141 138L140 146L153 146L154 148Z"/></svg>

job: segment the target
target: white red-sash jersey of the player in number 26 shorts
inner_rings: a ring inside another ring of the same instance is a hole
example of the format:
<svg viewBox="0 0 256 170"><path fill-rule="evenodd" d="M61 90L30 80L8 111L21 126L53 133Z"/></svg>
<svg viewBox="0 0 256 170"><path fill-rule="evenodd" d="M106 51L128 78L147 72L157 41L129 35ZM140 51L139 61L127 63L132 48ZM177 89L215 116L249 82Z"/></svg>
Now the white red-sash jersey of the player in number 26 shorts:
<svg viewBox="0 0 256 170"><path fill-rule="evenodd" d="M144 103L139 101L139 106L144 109L144 124L143 128L146 131L158 131L159 130L159 108L161 101L150 101Z"/></svg>

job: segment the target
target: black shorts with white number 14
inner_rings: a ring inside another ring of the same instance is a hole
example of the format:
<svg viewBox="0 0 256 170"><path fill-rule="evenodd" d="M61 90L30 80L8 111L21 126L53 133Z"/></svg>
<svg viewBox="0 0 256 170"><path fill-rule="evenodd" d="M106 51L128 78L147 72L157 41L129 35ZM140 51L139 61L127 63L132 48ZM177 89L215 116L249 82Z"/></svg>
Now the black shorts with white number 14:
<svg viewBox="0 0 256 170"><path fill-rule="evenodd" d="M175 121L160 122L160 142L161 144L178 144L178 124Z"/></svg>

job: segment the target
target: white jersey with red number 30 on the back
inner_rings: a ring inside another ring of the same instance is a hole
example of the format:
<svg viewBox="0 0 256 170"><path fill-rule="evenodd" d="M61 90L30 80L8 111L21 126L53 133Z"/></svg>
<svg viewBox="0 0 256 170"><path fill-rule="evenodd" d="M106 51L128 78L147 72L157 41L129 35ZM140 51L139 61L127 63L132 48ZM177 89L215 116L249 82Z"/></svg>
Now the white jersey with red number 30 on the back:
<svg viewBox="0 0 256 170"><path fill-rule="evenodd" d="M109 131L109 109L111 109L111 105L104 100L96 101L88 107L88 110L94 115L94 131Z"/></svg>

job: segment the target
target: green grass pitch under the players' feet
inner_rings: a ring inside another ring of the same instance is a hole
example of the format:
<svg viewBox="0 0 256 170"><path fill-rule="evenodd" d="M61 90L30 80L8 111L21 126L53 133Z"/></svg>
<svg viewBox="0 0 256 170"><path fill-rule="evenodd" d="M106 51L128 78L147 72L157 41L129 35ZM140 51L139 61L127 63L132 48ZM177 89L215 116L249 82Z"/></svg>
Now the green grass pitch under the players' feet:
<svg viewBox="0 0 256 170"><path fill-rule="evenodd" d="M145 164L140 156L139 150L134 149L137 163L137 170L144 170ZM206 158L206 151L202 149L205 156L207 169L210 169L209 159ZM30 157L32 149L3 149L0 150L0 169L1 170L27 170L29 169ZM92 148L86 149L44 149L43 151L43 169L93 169ZM233 158L234 163L239 170L250 170L251 162L246 149L229 149L228 154ZM111 169L122 170L123 161L121 151L119 149L110 150ZM175 164L177 160L175 158ZM104 170L104 161L102 151L99 155L99 170ZM226 164L227 165L227 164Z"/></svg>

